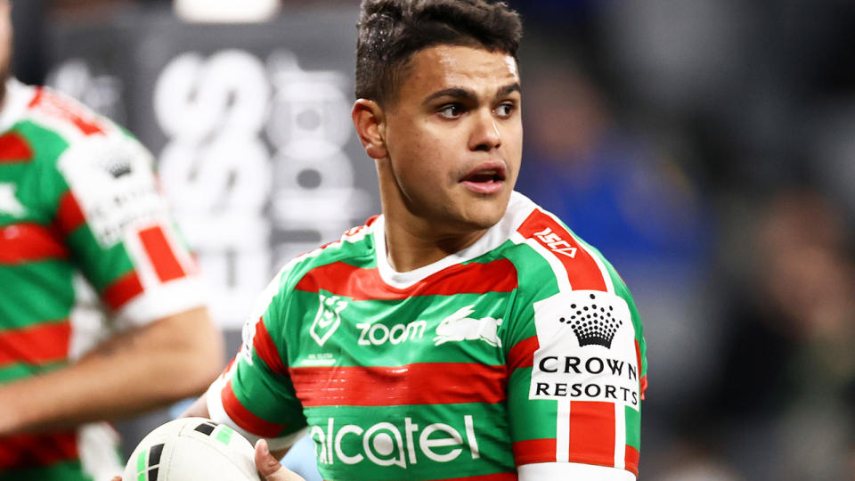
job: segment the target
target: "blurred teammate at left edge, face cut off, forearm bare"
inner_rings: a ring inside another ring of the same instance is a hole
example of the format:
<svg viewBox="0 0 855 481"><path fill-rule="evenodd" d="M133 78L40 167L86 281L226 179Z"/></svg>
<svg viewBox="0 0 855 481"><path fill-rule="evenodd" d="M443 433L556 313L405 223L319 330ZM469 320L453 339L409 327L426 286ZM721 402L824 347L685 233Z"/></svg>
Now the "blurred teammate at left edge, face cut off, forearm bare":
<svg viewBox="0 0 855 481"><path fill-rule="evenodd" d="M123 462L101 421L198 395L223 342L151 154L11 77L10 11L0 0L0 480L110 479ZM92 288L109 322L80 307Z"/></svg>

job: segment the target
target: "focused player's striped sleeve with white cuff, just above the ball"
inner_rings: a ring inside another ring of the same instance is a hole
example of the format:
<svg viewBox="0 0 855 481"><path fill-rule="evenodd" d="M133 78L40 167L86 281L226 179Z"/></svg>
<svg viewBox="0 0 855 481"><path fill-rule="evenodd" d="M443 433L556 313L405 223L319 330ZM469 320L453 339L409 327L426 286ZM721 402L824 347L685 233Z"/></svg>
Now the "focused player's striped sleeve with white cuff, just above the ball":
<svg viewBox="0 0 855 481"><path fill-rule="evenodd" d="M281 288L288 266L256 301L244 324L240 351L206 393L212 420L236 428L255 444L289 447L305 434L306 420L288 371L284 332L288 296Z"/></svg>

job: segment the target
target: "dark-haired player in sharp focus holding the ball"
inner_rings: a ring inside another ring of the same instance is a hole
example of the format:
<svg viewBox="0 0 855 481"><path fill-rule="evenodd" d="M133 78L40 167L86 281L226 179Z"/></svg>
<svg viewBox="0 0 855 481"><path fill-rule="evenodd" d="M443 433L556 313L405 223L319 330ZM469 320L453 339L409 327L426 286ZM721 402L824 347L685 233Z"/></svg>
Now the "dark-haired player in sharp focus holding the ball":
<svg viewBox="0 0 855 481"><path fill-rule="evenodd" d="M324 479L636 478L631 295L513 192L520 35L503 3L363 0L353 119L383 214L282 268L188 415L276 454L307 429Z"/></svg>

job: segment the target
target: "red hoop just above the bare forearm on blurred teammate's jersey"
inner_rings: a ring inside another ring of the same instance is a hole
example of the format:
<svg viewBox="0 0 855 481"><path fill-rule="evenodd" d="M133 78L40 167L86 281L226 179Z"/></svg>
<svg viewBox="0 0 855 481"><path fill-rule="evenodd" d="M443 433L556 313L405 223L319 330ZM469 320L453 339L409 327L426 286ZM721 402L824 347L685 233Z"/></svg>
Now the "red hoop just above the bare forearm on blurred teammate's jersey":
<svg viewBox="0 0 855 481"><path fill-rule="evenodd" d="M11 363L50 363L69 355L68 320L0 331L0 366Z"/></svg>

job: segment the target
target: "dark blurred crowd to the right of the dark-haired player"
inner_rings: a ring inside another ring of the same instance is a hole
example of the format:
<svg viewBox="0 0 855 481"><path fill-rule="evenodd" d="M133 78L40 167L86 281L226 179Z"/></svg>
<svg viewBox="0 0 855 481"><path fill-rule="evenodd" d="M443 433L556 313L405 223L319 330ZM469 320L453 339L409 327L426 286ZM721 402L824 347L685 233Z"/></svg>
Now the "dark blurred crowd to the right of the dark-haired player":
<svg viewBox="0 0 855 481"><path fill-rule="evenodd" d="M509 3L517 190L615 264L645 323L641 479L855 479L855 4ZM128 4L16 2L16 71L45 74L52 16Z"/></svg>

